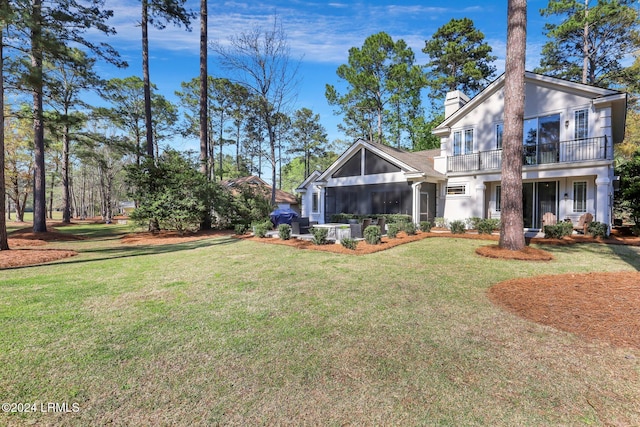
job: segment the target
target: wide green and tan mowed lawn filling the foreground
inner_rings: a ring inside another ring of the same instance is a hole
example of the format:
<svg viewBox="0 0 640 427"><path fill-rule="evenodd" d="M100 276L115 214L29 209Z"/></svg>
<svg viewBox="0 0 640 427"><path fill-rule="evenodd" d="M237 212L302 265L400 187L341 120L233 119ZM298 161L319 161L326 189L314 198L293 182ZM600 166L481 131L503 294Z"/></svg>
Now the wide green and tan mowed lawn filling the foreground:
<svg viewBox="0 0 640 427"><path fill-rule="evenodd" d="M80 252L0 275L0 425L638 425L640 351L586 342L486 297L514 277L636 271L637 248L426 239L351 257L217 238Z"/></svg>

